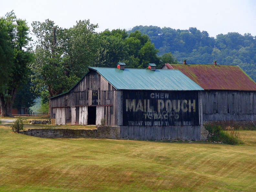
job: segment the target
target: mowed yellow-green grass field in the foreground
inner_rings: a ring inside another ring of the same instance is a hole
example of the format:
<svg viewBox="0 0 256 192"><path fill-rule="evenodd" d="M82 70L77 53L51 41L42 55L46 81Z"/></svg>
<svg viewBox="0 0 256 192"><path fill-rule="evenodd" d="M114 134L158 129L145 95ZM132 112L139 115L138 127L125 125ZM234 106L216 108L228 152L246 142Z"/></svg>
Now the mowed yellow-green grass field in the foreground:
<svg viewBox="0 0 256 192"><path fill-rule="evenodd" d="M256 131L244 145L48 139L0 125L0 191L256 191Z"/></svg>

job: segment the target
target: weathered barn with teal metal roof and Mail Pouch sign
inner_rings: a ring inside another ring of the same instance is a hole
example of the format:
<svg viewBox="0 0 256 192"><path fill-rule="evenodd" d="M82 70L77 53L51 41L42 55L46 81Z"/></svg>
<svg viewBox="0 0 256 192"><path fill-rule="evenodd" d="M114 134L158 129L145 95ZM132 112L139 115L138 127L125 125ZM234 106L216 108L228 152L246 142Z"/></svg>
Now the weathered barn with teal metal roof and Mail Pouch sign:
<svg viewBox="0 0 256 192"><path fill-rule="evenodd" d="M50 98L56 124L120 126L120 138L201 139L203 89L179 70L89 67L69 91Z"/></svg>

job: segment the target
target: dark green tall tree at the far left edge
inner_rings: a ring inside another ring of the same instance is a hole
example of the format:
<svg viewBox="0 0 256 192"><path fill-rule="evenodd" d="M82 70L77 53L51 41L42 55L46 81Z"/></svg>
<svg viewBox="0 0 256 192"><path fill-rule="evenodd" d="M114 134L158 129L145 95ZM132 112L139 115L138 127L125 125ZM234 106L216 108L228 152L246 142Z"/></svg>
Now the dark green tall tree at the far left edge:
<svg viewBox="0 0 256 192"><path fill-rule="evenodd" d="M12 116L16 92L27 79L27 66L32 60L28 34L26 20L17 19L13 11L0 18L1 116Z"/></svg>

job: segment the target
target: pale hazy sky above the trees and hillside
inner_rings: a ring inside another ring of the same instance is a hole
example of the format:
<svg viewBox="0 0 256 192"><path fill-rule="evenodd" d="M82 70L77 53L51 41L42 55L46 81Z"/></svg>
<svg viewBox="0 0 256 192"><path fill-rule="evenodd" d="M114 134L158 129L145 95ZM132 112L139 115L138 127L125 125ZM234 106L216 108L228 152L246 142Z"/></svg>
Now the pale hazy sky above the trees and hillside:
<svg viewBox="0 0 256 192"><path fill-rule="evenodd" d="M256 0L1 0L0 13L14 10L18 18L32 21L53 20L69 28L77 20L90 19L106 28L130 29L136 25L155 25L175 29L197 27L209 35L228 32L256 36Z"/></svg>

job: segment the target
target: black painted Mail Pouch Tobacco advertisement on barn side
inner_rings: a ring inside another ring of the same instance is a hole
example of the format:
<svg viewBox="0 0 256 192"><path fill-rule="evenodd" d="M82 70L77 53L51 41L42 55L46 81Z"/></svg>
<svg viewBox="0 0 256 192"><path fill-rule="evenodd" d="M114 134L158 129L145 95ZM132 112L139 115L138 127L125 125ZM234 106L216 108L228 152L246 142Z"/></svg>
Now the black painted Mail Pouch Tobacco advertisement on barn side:
<svg viewBox="0 0 256 192"><path fill-rule="evenodd" d="M123 91L124 126L199 125L197 91Z"/></svg>

